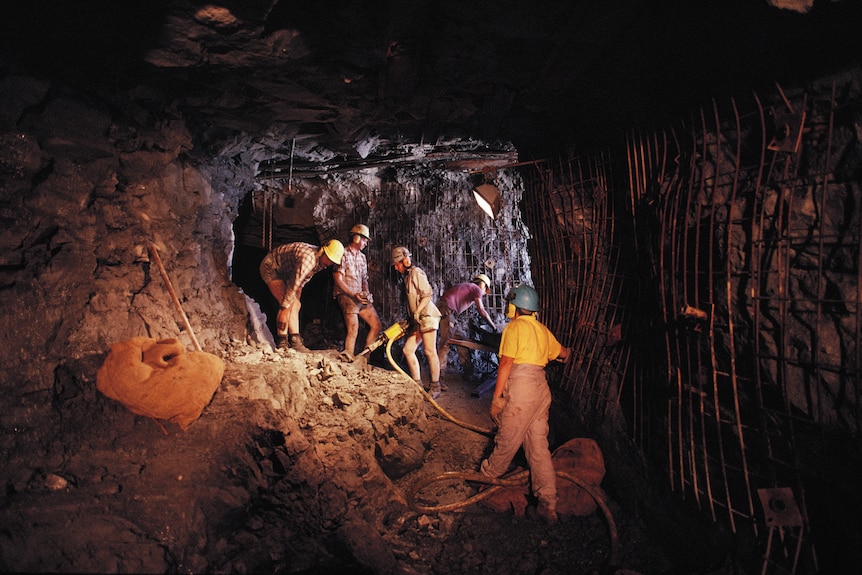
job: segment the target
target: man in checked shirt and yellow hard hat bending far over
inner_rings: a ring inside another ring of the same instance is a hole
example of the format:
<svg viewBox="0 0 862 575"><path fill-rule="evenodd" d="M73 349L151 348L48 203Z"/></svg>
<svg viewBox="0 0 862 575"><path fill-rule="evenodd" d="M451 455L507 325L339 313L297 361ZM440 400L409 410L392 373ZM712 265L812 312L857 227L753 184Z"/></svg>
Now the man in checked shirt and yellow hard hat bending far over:
<svg viewBox="0 0 862 575"><path fill-rule="evenodd" d="M308 352L299 333L302 288L314 276L341 263L344 245L329 240L322 247L305 242L282 244L271 250L260 263L260 277L279 303L275 318L275 343L279 349Z"/></svg>

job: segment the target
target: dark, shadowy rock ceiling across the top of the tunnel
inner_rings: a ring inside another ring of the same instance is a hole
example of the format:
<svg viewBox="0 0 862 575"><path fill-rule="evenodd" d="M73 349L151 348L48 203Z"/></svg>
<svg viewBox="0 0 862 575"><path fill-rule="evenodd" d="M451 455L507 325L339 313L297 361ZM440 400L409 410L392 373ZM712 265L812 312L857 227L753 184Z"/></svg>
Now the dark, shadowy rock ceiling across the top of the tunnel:
<svg viewBox="0 0 862 575"><path fill-rule="evenodd" d="M772 3L34 0L4 7L0 65L134 88L213 138L537 156L858 61L862 3Z"/></svg>

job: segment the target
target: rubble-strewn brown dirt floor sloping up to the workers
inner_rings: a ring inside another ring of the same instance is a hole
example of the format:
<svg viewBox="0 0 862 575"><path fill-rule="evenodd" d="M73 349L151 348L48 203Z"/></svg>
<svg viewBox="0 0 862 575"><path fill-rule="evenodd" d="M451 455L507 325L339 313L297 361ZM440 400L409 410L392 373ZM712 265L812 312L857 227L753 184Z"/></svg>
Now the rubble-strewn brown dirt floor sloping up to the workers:
<svg viewBox="0 0 862 575"><path fill-rule="evenodd" d="M529 500L523 515L462 505L479 484L417 491L489 453L488 435L451 419L491 429L480 392L493 374L447 371L444 416L379 356L365 366L237 344L212 402L181 431L102 396L103 359L64 366L52 397L19 406L29 419L4 421L2 571L732 572L720 555L681 570L664 534L612 493L606 512L551 526Z"/></svg>

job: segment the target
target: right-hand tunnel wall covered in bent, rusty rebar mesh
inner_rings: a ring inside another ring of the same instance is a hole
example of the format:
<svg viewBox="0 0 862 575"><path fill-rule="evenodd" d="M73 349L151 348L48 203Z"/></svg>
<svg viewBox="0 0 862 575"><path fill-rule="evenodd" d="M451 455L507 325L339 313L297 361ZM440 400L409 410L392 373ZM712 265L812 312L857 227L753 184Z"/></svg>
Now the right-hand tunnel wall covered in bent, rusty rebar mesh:
<svg viewBox="0 0 862 575"><path fill-rule="evenodd" d="M859 540L834 528L862 507L859 77L634 130L524 196L545 319L575 352L559 388L714 521L764 548L789 533L785 568L801 540L803 572Z"/></svg>

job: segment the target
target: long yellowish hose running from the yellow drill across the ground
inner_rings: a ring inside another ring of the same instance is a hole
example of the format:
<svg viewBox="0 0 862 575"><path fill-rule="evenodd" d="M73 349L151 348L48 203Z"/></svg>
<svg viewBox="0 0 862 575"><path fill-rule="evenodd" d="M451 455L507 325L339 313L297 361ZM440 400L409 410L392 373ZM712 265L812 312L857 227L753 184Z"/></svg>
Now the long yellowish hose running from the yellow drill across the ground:
<svg viewBox="0 0 862 575"><path fill-rule="evenodd" d="M404 335L403 332L401 335ZM401 337L401 336L399 336L399 337ZM410 375L407 372L405 372L403 369L401 369L401 366L399 366L395 362L394 359L392 359L392 344L395 342L396 339L398 339L398 337L392 338L386 343L386 359L389 360L389 363L392 365L392 367L396 371L401 373L405 378L409 379L414 385L416 385L416 381L412 377L410 377ZM425 399L427 399L428 402L431 405L433 405L434 408L437 411L439 411L440 414L443 415L443 417L445 417L447 420L449 420L452 423L454 423L455 425L458 425L458 426L463 427L465 429L475 431L476 433L480 433L480 434L486 435L488 437L494 436L494 432L490 429L485 429L483 427L472 425L470 423L467 423L466 421L461 421L461 420L453 417L450 413L448 413L445 409L443 409L439 403L434 401L434 398L431 397L431 395L427 391L425 391L421 385L418 385L418 387L419 387L419 391L422 393L422 395L425 397ZM604 515L605 515L605 520L608 523L608 532L610 534L610 539L611 539L611 551L610 551L610 554L608 556L608 564L609 565L616 565L616 563L619 559L619 535L617 533L617 524L614 521L614 516L611 513L610 508L608 507L607 501L605 500L604 493L601 491L601 489L595 488L594 486L590 485L586 481L583 481L579 477L572 475L570 473L566 473L563 471L557 471L556 475L557 475L557 477L560 477L562 479L565 479L567 481L574 483L575 485L577 485L578 487L580 487L581 489L586 491L590 495L590 497L593 498L593 500L596 502L596 504L601 508L602 513L604 513ZM418 485L414 486L414 488L407 494L407 503L411 509L413 509L414 511L417 511L419 513L440 513L440 512L445 512L445 511L454 511L457 509L463 509L465 507L473 505L474 503L478 503L479 501L482 501L483 499L488 498L489 496L491 496L492 494L494 494L495 492L499 491L500 489L502 489L504 487L516 487L516 486L521 486L521 485L527 485L527 482L529 481L529 476L530 476L530 471L528 469L525 469L524 471L518 472L518 473L511 475L509 477L506 477L505 479L486 477L484 475L481 475L481 474L475 473L475 472L447 471L445 473L441 473L439 475L435 475L433 477L430 477L430 478L426 479L425 481L422 481ZM486 484L486 485L491 485L491 487L489 487L488 489L481 490L478 493L476 493L475 495L468 497L467 499L464 499L463 501L458 501L455 503L449 503L446 505L427 506L427 505L420 505L416 502L416 495L424 487L427 487L428 485L431 485L432 483L436 483L438 481L452 481L452 480L472 481L475 483L482 483L482 484Z"/></svg>

